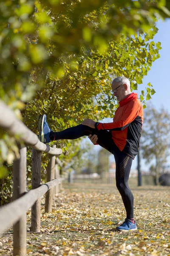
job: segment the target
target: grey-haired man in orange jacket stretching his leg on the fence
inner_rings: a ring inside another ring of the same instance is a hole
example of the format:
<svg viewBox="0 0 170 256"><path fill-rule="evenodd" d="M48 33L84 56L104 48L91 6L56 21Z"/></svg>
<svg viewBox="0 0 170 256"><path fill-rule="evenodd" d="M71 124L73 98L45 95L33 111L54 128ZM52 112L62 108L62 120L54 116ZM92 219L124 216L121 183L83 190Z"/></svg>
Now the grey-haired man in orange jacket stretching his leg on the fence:
<svg viewBox="0 0 170 256"><path fill-rule="evenodd" d="M46 115L39 122L40 141L49 143L51 140L74 140L88 136L94 144L99 144L110 151L116 162L116 186L126 209L126 219L116 227L118 231L136 230L133 216L133 194L128 186L132 160L138 154L142 132L143 108L136 93L130 91L130 81L125 76L115 78L111 84L112 93L119 102L113 122L100 123L85 119L81 125L64 131L51 131Z"/></svg>

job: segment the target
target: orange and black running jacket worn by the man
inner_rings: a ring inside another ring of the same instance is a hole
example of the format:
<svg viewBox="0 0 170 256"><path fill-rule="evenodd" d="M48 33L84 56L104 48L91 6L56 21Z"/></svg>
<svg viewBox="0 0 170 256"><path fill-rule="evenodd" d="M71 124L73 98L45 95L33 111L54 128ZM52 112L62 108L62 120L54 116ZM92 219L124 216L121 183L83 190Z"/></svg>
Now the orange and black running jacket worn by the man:
<svg viewBox="0 0 170 256"><path fill-rule="evenodd" d="M143 124L143 107L137 93L131 93L116 109L113 122L98 123L98 130L112 131L114 143L134 159L139 150L139 141Z"/></svg>

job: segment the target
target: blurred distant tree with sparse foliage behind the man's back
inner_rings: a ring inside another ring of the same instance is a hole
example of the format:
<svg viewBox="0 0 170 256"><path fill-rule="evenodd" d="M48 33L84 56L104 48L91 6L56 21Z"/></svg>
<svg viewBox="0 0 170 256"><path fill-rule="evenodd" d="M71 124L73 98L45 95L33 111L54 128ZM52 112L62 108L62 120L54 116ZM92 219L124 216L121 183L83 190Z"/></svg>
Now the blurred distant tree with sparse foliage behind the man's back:
<svg viewBox="0 0 170 256"><path fill-rule="evenodd" d="M142 131L141 148L146 163L154 160L150 171L159 183L159 175L169 155L170 146L170 114L161 108L157 111L149 105L144 111L144 126Z"/></svg>

